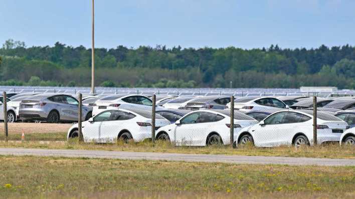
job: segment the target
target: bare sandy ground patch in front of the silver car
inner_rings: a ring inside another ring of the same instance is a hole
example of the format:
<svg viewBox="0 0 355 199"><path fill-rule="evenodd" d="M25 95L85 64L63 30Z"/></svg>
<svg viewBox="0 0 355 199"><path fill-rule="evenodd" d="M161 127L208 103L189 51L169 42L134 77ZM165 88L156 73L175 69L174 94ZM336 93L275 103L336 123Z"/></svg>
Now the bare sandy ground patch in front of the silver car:
<svg viewBox="0 0 355 199"><path fill-rule="evenodd" d="M8 123L10 133L68 132L72 123ZM0 133L4 133L4 122L0 122Z"/></svg>

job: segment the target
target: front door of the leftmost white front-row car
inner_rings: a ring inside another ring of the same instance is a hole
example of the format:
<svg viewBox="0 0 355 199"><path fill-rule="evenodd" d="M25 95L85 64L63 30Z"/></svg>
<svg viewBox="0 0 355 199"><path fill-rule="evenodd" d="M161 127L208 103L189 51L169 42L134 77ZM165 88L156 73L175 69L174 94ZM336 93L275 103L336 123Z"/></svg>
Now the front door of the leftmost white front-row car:
<svg viewBox="0 0 355 199"><path fill-rule="evenodd" d="M113 110L106 110L97 114L92 122L85 121L85 125L83 125L83 136L85 140L93 140L96 142L104 142L104 137L101 133L101 125L103 122L108 122L110 120L111 114Z"/></svg>

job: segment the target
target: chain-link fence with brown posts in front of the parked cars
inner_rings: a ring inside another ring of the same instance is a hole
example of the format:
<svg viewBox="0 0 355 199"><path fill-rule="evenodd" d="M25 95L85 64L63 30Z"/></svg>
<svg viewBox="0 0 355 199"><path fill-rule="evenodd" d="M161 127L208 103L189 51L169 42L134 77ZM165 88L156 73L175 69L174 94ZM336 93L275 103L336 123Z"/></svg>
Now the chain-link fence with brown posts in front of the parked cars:
<svg viewBox="0 0 355 199"><path fill-rule="evenodd" d="M177 104L175 100L175 104L170 104L175 108L166 108L157 105L157 98L164 97L155 94L150 99L143 95L109 96L106 101L97 100L90 105L84 103L84 97L91 96L38 93L10 99L4 92L0 137L2 140L77 138L80 142L94 143L166 141L176 146L254 144L263 147L339 141L341 133L348 128L345 121L332 113L317 111L316 96L314 111L291 109L286 105L283 109L267 107L269 102L277 104L270 98L256 99L263 105L253 106L241 105L242 100L235 100L234 96L194 96L184 100L176 98L184 102ZM211 99L214 103L208 102Z"/></svg>

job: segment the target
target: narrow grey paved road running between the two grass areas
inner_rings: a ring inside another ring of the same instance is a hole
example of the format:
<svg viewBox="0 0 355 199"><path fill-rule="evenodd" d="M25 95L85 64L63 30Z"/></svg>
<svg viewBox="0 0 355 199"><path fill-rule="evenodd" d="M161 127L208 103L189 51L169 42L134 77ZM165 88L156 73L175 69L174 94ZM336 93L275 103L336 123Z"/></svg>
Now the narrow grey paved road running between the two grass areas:
<svg viewBox="0 0 355 199"><path fill-rule="evenodd" d="M0 148L0 155L36 155L36 156L89 157L89 158L112 158L112 159L146 159L146 160L168 160L168 161L247 163L247 164L355 166L355 159L182 154L182 153L127 152L127 151L104 151L104 150Z"/></svg>

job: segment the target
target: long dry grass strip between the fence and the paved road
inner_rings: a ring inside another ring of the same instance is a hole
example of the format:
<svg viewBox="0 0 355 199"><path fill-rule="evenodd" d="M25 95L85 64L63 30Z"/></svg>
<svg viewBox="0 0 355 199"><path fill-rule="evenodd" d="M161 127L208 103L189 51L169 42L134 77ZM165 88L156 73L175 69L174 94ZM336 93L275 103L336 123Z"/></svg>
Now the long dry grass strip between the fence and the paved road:
<svg viewBox="0 0 355 199"><path fill-rule="evenodd" d="M112 144L79 144L77 140L69 142L0 142L0 147L25 147L49 149L87 149L87 150L116 150L116 151L147 151L147 152L173 152L195 154L230 154L230 155L263 155L263 156L289 156L289 157L326 157L326 158L355 158L355 147L350 145L328 144L317 146L280 146L273 148L258 148L246 146L231 148L229 145L210 147L173 146L170 143L157 141L154 146L151 142L130 142Z"/></svg>

